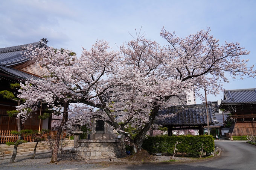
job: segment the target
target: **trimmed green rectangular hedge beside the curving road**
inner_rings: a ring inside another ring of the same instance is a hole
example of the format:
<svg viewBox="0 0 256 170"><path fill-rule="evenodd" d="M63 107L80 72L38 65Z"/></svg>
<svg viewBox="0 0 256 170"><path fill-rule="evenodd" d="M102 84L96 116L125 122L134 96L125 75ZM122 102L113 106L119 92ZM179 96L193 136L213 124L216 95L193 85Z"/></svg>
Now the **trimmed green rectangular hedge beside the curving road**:
<svg viewBox="0 0 256 170"><path fill-rule="evenodd" d="M178 152L185 152L191 156L198 157L201 154L202 143L204 152L214 151L214 139L211 135L203 136L161 136L148 137L143 141L142 148L147 150L149 154L153 153L168 153L173 154L176 142Z"/></svg>

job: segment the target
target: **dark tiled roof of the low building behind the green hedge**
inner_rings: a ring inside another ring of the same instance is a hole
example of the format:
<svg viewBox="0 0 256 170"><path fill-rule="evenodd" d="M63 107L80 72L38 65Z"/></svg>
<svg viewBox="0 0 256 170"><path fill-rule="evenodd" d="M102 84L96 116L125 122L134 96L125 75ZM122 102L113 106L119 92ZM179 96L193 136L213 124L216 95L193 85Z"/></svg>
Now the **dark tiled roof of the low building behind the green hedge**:
<svg viewBox="0 0 256 170"><path fill-rule="evenodd" d="M157 124L170 126L197 126L207 125L206 105L194 104L184 106L173 106L158 111L158 116L166 114L176 114L174 117L166 117L165 119L157 118ZM209 124L218 123L213 108L208 105Z"/></svg>

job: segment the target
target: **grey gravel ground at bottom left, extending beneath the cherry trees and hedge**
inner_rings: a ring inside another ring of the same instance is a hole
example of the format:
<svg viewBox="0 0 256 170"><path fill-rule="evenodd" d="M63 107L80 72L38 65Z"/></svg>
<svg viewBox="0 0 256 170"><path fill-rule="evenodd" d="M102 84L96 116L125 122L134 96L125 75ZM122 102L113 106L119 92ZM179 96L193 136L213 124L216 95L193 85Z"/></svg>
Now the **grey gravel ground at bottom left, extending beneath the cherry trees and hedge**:
<svg viewBox="0 0 256 170"><path fill-rule="evenodd" d="M66 156L58 159L58 164L49 164L50 153L37 153L35 159L30 159L31 154L18 155L15 163L9 164L10 159L0 159L1 170L86 170L86 169L99 169L112 166L113 164L141 164L141 162L128 162L126 159L93 159L88 160L73 160ZM170 156L154 156L155 162L162 162L170 160ZM194 158L180 158L175 157L177 161L189 161Z"/></svg>

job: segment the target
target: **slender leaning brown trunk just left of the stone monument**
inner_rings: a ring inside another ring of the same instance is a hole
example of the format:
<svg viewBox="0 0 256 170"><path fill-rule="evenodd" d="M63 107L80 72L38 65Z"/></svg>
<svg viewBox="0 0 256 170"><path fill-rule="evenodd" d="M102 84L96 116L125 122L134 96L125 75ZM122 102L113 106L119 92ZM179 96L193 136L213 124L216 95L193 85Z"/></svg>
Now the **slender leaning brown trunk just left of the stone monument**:
<svg viewBox="0 0 256 170"><path fill-rule="evenodd" d="M52 159L51 159L50 163L55 163L55 164L58 163L59 141L61 138L62 126L66 125L66 120L67 120L67 116L68 116L68 111L67 111L68 105L69 104L67 102L64 102L64 104L63 104L62 121L61 121L61 125L59 126L57 134L56 134L55 143L54 143L54 147L53 147L53 153L52 153Z"/></svg>

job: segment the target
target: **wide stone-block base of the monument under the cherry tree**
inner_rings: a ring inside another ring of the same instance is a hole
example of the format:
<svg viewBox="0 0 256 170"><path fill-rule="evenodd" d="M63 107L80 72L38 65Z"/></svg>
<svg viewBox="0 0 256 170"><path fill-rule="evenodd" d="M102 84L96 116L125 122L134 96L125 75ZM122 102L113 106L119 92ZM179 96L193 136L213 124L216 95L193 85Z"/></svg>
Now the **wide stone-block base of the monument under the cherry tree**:
<svg viewBox="0 0 256 170"><path fill-rule="evenodd" d="M118 158L126 155L125 145L119 139L112 140L78 140L76 159Z"/></svg>

